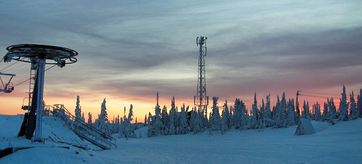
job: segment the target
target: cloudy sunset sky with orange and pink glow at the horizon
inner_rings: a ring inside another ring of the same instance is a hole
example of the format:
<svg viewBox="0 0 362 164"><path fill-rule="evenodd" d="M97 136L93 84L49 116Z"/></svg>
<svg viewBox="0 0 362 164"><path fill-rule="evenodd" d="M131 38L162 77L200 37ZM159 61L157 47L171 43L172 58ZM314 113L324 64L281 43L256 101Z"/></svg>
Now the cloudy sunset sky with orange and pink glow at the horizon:
<svg viewBox="0 0 362 164"><path fill-rule="evenodd" d="M297 90L337 98L343 84L356 98L362 88L361 8L358 0L0 1L0 56L17 44L77 51L78 62L45 72L44 101L74 112L79 95L93 121L104 98L110 119L132 104L138 122L154 112L157 91L161 106L169 109L174 96L178 108L193 107L200 36L207 37L207 95L209 101L219 97L220 111L235 98L250 110L254 93L258 104L270 93L272 105L277 95L295 98ZM30 64L15 62L1 62L0 70L16 74L17 85L30 78ZM27 91L29 82L1 95L0 114L24 114ZM326 101L303 100L310 107Z"/></svg>

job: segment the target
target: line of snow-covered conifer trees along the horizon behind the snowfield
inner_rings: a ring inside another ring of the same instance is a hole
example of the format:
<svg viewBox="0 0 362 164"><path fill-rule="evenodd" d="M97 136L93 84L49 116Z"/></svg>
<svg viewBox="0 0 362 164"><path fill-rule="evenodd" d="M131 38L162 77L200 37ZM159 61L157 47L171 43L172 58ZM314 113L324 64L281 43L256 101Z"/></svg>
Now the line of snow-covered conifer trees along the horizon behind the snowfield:
<svg viewBox="0 0 362 164"><path fill-rule="evenodd" d="M197 134L204 131L226 133L230 130L249 130L264 128L286 128L298 124L299 119L309 119L334 124L336 121L354 120L362 117L362 90L359 91L357 99L354 93L347 99L345 86L343 86L340 106L336 109L333 98L327 98L322 108L319 102L315 102L310 108L309 102L303 102L302 111L299 113L295 108L294 98L287 100L285 93L282 93L281 99L277 96L277 103L271 107L270 95L266 95L265 100L261 98L258 104L257 94L254 94L254 103L250 110L240 99L235 99L233 105L228 105L225 100L222 109L219 110L218 97L212 98L212 106L208 109L181 106L178 111L175 106L175 98L171 99L171 109L167 110L164 105L162 110L159 105L159 93L156 94L156 106L154 110L145 115L144 123L131 125L133 120L132 104L129 113L126 116L126 107L124 108L123 118L119 115L113 120L109 120L105 108L105 99L102 103L101 113L98 119L92 124L109 134L119 134L119 138L136 138L135 130L140 127L147 127L147 135L144 137L154 137L160 135L177 134ZM357 100L357 101L356 101ZM79 116L79 97L77 97L76 116ZM220 115L221 114L221 115ZM89 116L91 114L89 113ZM213 133L214 133L213 132Z"/></svg>

